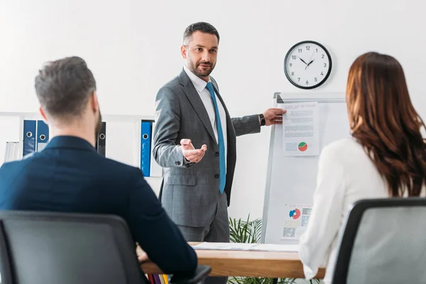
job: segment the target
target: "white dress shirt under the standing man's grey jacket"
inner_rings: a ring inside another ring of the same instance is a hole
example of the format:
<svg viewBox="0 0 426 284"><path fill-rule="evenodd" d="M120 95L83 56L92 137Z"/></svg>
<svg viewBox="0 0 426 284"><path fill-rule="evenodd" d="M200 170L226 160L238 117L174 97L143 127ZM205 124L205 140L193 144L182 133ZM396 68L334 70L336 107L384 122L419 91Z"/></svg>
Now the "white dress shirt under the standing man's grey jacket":
<svg viewBox="0 0 426 284"><path fill-rule="evenodd" d="M194 84L195 89L200 95L202 103L204 104L207 114L209 115L210 123L212 124L212 128L214 131L214 137L216 137L216 141L218 141L216 111L214 110L214 103L212 100L212 96L210 95L210 92L207 89L207 82L205 82L200 77L192 73L186 66L184 66L183 69L187 73L188 77L190 77L192 84ZM211 82L211 80L209 80L209 82ZM222 103L219 100L219 97L217 97L216 92L214 92L214 95L216 96L217 107L219 108L219 116L220 116L220 121L222 124L222 132L224 135L225 159L226 159L226 153L228 151L228 139L226 136L226 113L225 113L224 107L222 106ZM201 147L201 145L199 147ZM209 151L209 149L207 149L207 151ZM225 163L225 166L226 166L226 163Z"/></svg>

